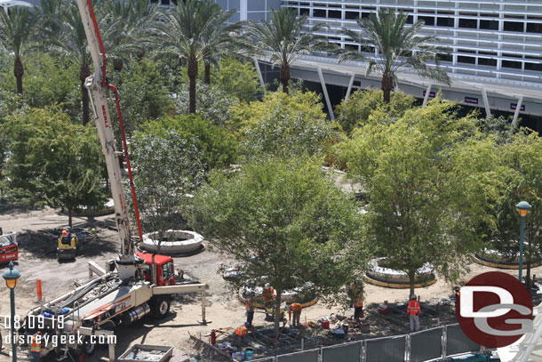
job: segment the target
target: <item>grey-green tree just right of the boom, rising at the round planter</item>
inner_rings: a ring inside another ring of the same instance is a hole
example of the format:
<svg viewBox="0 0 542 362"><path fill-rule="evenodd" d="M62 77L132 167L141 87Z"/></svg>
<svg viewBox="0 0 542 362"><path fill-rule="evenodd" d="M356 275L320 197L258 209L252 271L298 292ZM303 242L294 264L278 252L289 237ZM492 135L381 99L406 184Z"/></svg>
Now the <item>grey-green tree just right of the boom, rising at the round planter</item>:
<svg viewBox="0 0 542 362"><path fill-rule="evenodd" d="M195 141L175 130L138 133L132 139L132 162L141 227L158 233L160 248L164 232L184 223L187 194L206 174L201 152Z"/></svg>

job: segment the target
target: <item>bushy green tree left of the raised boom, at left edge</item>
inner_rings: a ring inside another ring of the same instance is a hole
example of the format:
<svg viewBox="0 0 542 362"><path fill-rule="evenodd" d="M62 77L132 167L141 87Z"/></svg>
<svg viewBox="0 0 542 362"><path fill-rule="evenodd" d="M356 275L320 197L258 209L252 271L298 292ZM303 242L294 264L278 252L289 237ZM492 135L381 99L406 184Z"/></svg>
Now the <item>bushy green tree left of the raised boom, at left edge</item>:
<svg viewBox="0 0 542 362"><path fill-rule="evenodd" d="M105 200L104 163L98 133L73 125L58 108L28 109L7 117L2 134L11 156L5 174L16 197L72 213Z"/></svg>

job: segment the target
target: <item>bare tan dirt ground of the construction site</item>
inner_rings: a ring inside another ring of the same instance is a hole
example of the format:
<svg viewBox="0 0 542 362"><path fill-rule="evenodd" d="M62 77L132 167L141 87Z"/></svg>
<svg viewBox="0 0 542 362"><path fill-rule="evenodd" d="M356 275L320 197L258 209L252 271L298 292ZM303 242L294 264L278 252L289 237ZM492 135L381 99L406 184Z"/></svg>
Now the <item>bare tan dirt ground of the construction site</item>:
<svg viewBox="0 0 542 362"><path fill-rule="evenodd" d="M4 231L17 231L18 241L20 242L20 258L18 265L21 278L19 286L15 290L16 295L16 314L21 317L26 315L28 310L36 307L36 279L43 281L43 293L45 300L51 300L53 297L68 292L76 282L83 282L88 278L88 261L95 261L100 266L105 261L113 259L119 250L119 241L115 230L108 229L103 222L104 217L95 220L86 218L74 218L74 226L82 227L86 230L95 228L95 232L83 243L80 255L75 262L57 261L56 244L52 241L52 229L59 229L67 226L68 217L65 214L56 213L51 209L41 211L20 211L13 209L0 210L0 227ZM207 245L207 242L205 242ZM171 313L168 318L160 322L152 318L144 318L136 322L135 325L119 327L116 330L117 344L116 356L119 356L124 350L127 350L132 344L145 343L153 345L171 346L174 348L171 361L218 361L220 356L213 356L199 348L201 345L190 340L190 335L200 337L203 341L209 341L205 335L211 332L211 329L224 327L235 327L243 324L244 304L240 302L237 295L227 288L227 282L219 275L219 266L221 263L233 266L233 261L228 261L219 253L212 252L206 248L202 253L188 257L175 257L175 267L183 269L192 278L205 283L208 286L206 294L206 319L211 321L207 326L198 323L201 320L201 302L198 294L187 294L176 297L171 303ZM0 272L4 272L6 266L3 265ZM482 267L478 264L471 265L469 275L464 280L468 280L474 275L483 271L495 270ZM502 270L501 270L502 271ZM508 271L516 275L517 271ZM541 275L542 267L533 269L533 274ZM10 302L7 287L2 283L0 290L0 316L9 316ZM380 286L365 286L367 307L367 321L371 324L371 332L348 338L372 338L388 334L408 333L408 319L399 319L399 323L394 323L383 318L376 310L379 303L388 301L407 302L408 289L389 289ZM450 304L450 294L452 286L439 279L433 286L418 288L416 293L420 296L422 302L430 304L442 304L442 313L439 318L424 317L421 318L421 327L437 326L454 322L452 305ZM423 305L422 305L423 312ZM323 316L329 316L331 313L350 316L353 310L340 309L339 306L327 306L322 302L303 310L301 321L317 321ZM271 326L271 323L264 321L263 313L256 313L254 318L255 326ZM2 334L7 334L6 326L2 324ZM324 336L323 331L307 331L307 335ZM313 340L315 340L313 338ZM324 344L338 343L344 341L334 340L333 338L320 338L318 342ZM4 350L0 353L0 361L9 361L11 357L7 354L6 343ZM307 345L306 345L307 347ZM276 350L269 349L267 353L275 354ZM98 350L92 358L87 360L106 361L108 360L107 348Z"/></svg>

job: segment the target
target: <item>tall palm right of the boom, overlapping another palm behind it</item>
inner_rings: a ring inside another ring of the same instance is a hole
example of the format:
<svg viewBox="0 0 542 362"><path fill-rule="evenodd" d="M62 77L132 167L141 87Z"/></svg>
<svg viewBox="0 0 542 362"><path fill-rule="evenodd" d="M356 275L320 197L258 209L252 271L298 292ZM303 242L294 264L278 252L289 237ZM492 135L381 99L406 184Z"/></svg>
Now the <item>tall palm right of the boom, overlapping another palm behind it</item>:
<svg viewBox="0 0 542 362"><path fill-rule="evenodd" d="M190 113L195 113L198 63L211 60L211 50L215 46L214 41L205 42L210 39L209 29L216 26L213 21L217 20L218 12L221 12L219 5L211 0L179 1L171 12L162 13L162 21L155 23L155 33L163 39L164 50L176 52L187 61Z"/></svg>

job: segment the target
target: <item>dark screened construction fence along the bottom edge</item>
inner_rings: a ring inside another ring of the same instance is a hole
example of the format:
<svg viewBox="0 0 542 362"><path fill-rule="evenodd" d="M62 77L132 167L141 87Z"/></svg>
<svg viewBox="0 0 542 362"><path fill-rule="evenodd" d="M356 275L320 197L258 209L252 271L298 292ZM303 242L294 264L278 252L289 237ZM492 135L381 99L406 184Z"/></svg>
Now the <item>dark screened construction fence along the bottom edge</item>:
<svg viewBox="0 0 542 362"><path fill-rule="evenodd" d="M315 350L284 354L255 362L424 362L480 352L458 324L439 326L424 331L347 342Z"/></svg>

